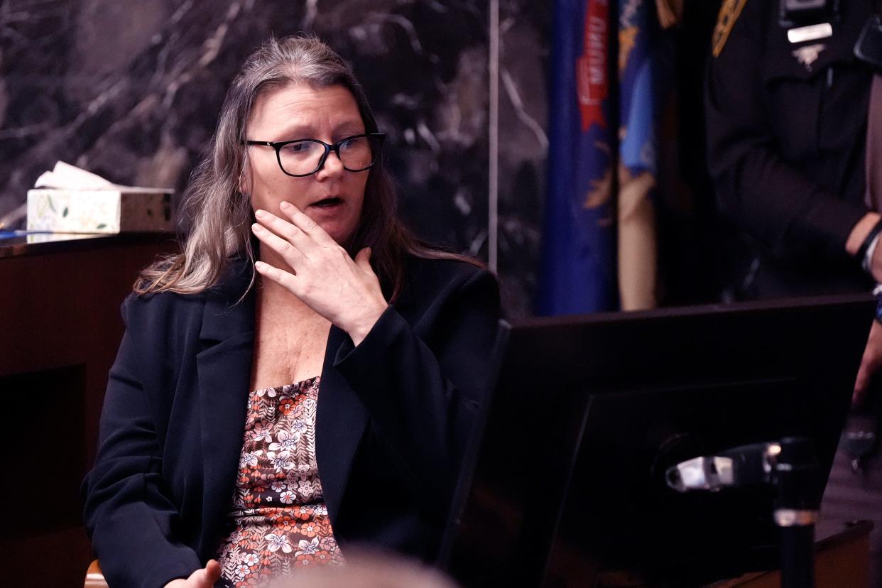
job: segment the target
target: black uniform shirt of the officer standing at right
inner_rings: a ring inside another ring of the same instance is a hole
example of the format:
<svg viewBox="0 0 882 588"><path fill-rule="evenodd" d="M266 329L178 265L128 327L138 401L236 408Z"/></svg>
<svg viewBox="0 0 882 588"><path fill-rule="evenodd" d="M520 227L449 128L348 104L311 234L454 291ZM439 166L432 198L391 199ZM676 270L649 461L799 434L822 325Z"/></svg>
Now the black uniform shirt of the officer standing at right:
<svg viewBox="0 0 882 588"><path fill-rule="evenodd" d="M872 71L853 49L871 3L844 0L832 36L800 43L789 42L777 8L774 0L728 0L714 34L706 116L717 198L761 243L762 271L776 274L759 295L866 287L845 242L867 212ZM726 16L734 20L728 30Z"/></svg>

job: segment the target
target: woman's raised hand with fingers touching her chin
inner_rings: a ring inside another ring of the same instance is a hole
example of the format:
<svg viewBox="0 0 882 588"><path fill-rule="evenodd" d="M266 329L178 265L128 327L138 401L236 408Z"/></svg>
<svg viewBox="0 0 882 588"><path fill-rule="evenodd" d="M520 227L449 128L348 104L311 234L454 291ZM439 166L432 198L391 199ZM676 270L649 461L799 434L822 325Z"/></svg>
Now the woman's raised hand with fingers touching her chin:
<svg viewBox="0 0 882 588"><path fill-rule="evenodd" d="M347 331L357 346L388 306L377 274L370 267L370 249L362 249L353 260L325 229L295 205L283 202L281 209L290 221L258 210L258 223L251 229L294 272L264 262L258 262L255 268Z"/></svg>

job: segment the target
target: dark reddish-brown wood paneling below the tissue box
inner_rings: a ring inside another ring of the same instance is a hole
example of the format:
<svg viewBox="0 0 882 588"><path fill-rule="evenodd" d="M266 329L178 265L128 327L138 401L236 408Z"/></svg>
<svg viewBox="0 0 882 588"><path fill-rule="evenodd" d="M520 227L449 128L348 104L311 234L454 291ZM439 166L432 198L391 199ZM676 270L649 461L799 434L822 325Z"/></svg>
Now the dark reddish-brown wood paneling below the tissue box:
<svg viewBox="0 0 882 588"><path fill-rule="evenodd" d="M92 464L120 303L168 235L113 236L0 255L0 416L6 532L18 586L82 585L92 559L79 483ZM0 249L4 242L0 241Z"/></svg>

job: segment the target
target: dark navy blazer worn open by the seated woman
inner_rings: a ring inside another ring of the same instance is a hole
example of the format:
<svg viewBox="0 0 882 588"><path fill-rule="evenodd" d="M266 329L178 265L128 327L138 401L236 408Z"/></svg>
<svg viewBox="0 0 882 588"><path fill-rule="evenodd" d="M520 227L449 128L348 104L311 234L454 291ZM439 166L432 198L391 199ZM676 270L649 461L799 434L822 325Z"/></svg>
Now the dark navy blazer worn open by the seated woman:
<svg viewBox="0 0 882 588"><path fill-rule="evenodd" d="M332 327L316 454L335 537L430 560L497 333L497 282L413 260L355 347ZM162 586L215 556L242 450L254 339L251 265L205 294L130 295L110 370L86 529L111 586Z"/></svg>

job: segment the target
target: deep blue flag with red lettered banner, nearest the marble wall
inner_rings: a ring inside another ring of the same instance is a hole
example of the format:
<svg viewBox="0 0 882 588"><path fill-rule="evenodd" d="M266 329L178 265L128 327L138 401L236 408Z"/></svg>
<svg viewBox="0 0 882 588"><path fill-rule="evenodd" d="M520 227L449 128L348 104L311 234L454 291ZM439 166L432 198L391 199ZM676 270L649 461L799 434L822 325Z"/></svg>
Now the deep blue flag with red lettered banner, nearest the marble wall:
<svg viewBox="0 0 882 588"><path fill-rule="evenodd" d="M540 315L617 308L607 0L557 0ZM615 15L617 16L617 15Z"/></svg>

